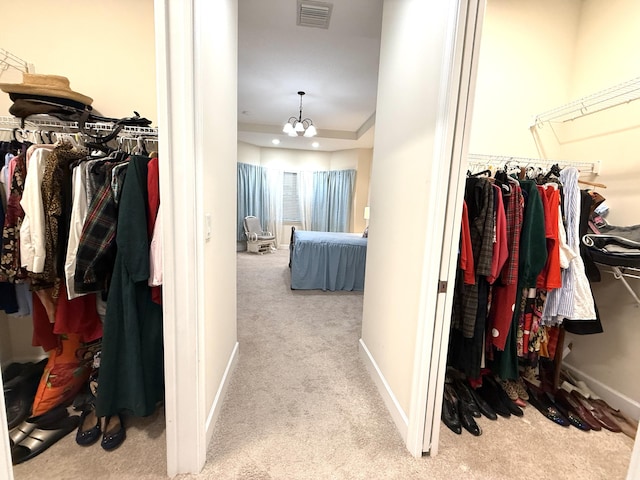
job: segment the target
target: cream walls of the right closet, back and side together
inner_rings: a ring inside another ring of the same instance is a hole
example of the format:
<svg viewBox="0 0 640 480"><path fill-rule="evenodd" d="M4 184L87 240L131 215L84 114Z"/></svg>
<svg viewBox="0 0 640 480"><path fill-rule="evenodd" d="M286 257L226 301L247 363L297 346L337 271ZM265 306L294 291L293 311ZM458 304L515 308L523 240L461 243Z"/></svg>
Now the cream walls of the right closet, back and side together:
<svg viewBox="0 0 640 480"><path fill-rule="evenodd" d="M532 117L640 76L640 4L633 0L488 0L470 151L602 162L609 220L640 224L640 102L529 130ZM593 177L586 177L594 180ZM566 363L640 402L638 310L620 283L593 284L605 332L567 335ZM640 292L637 280L630 280ZM623 405L621 405L622 408ZM638 414L636 410L634 413Z"/></svg>

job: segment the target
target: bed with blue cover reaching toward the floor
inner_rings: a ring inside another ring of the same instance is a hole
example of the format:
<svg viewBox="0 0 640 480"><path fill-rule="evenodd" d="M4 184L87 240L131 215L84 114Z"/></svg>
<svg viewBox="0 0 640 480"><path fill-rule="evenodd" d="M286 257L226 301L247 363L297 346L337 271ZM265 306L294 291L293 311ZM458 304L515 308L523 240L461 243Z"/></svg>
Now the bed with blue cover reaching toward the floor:
<svg viewBox="0 0 640 480"><path fill-rule="evenodd" d="M364 291L367 238L291 227L292 290Z"/></svg>

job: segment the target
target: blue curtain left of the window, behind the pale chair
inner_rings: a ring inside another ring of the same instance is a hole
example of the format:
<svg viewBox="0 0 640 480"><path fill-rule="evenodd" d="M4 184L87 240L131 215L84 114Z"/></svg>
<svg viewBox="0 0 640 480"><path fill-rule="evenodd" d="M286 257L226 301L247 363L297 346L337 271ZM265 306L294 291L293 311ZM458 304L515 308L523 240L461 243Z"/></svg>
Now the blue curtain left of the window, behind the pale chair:
<svg viewBox="0 0 640 480"><path fill-rule="evenodd" d="M244 238L242 221L247 215L254 215L265 222L269 215L269 184L267 170L258 165L238 163L238 238ZM264 225L263 225L264 228Z"/></svg>

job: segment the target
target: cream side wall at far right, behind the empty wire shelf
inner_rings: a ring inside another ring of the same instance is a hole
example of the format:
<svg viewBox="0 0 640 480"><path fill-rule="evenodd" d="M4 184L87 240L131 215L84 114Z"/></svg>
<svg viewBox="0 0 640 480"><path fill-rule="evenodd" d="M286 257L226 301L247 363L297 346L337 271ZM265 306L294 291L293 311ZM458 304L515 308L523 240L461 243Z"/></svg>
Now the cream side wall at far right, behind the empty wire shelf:
<svg viewBox="0 0 640 480"><path fill-rule="evenodd" d="M586 0L580 16L571 97L579 98L640 77L640 3L634 0ZM574 120L559 134L562 155L600 160L599 192L611 207L608 220L616 225L640 224L640 100L606 112ZM545 137L546 139L547 137ZM549 141L548 143L551 143ZM640 416L640 317L638 307L622 284L609 274L593 284L604 333L569 336L573 342L567 363L628 396ZM640 294L640 280L630 279ZM622 408L622 406L621 406Z"/></svg>

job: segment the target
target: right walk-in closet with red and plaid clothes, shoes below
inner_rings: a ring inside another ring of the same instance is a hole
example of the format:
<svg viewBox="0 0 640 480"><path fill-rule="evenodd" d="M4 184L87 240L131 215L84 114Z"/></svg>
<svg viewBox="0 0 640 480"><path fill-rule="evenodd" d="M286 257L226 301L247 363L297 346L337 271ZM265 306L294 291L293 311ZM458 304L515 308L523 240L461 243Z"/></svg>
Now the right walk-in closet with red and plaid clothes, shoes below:
<svg viewBox="0 0 640 480"><path fill-rule="evenodd" d="M524 431L523 419L541 414L536 430L549 435L600 436L603 474L622 463L608 475L626 475L640 416L640 216L630 208L638 201L640 70L628 61L639 16L629 1L486 3L442 410L446 448L473 444L462 436L507 441L492 422ZM538 214L555 226L532 228ZM575 267L558 265L566 261L558 218L573 237ZM483 232L493 239L484 242ZM624 232L615 241L626 256L606 245L607 232L607 241ZM514 238L503 256L499 245ZM485 412L487 403L500 411Z"/></svg>

